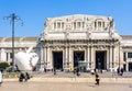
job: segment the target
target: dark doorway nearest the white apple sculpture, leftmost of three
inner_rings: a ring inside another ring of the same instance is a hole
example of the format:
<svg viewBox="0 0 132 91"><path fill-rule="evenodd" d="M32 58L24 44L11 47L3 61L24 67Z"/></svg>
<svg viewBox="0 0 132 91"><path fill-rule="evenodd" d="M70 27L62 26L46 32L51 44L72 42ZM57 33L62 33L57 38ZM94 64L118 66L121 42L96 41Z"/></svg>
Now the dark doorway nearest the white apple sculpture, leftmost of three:
<svg viewBox="0 0 132 91"><path fill-rule="evenodd" d="M63 70L63 52L53 52L53 66Z"/></svg>

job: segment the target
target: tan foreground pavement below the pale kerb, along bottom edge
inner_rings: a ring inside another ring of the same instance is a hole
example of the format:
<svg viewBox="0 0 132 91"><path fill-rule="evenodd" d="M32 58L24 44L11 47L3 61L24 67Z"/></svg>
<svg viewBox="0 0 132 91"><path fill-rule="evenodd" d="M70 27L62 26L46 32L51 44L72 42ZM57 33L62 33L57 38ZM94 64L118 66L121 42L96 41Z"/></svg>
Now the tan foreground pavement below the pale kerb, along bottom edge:
<svg viewBox="0 0 132 91"><path fill-rule="evenodd" d="M132 91L131 83L4 82L0 91Z"/></svg>

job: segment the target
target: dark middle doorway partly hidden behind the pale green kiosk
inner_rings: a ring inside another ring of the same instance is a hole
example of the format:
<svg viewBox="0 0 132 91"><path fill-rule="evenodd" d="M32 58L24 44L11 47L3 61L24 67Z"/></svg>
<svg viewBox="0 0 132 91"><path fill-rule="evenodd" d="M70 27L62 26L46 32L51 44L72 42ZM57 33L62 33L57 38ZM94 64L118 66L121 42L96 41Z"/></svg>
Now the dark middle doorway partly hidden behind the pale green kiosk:
<svg viewBox="0 0 132 91"><path fill-rule="evenodd" d="M75 50L74 52L74 67L78 67L78 61L85 60L85 50Z"/></svg>

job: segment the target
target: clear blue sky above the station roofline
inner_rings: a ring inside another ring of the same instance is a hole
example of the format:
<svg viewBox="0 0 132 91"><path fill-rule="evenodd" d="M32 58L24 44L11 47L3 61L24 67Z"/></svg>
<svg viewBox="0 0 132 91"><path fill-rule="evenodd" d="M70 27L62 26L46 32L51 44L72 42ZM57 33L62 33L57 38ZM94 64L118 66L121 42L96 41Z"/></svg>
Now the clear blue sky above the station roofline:
<svg viewBox="0 0 132 91"><path fill-rule="evenodd" d="M6 18L14 13L15 37L38 37L46 18L72 14L112 16L120 35L132 35L132 0L0 0L0 37L11 37Z"/></svg>

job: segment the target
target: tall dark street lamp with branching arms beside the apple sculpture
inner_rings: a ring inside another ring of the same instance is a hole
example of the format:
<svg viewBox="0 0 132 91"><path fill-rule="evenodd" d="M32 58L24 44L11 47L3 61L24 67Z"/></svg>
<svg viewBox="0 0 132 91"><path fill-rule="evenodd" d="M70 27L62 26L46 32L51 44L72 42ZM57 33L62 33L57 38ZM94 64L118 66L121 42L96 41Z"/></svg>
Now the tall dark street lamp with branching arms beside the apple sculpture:
<svg viewBox="0 0 132 91"><path fill-rule="evenodd" d="M12 71L15 71L15 61L14 61L14 23L18 21L21 21L23 24L23 21L15 15L14 13L10 14L9 16L4 16L3 20L9 20L12 24Z"/></svg>

